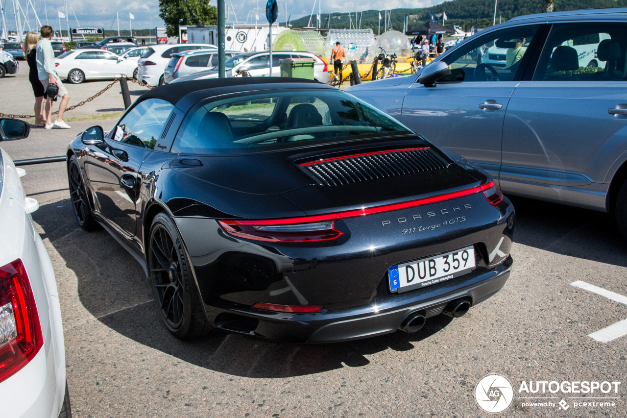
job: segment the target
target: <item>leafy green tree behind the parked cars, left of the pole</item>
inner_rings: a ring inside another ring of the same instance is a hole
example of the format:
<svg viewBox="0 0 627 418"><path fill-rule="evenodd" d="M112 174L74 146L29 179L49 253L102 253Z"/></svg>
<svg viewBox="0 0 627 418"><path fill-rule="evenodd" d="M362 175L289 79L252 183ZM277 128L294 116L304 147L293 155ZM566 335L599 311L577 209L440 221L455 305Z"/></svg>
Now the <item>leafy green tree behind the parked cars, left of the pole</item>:
<svg viewBox="0 0 627 418"><path fill-rule="evenodd" d="M167 36L178 36L179 25L218 24L218 9L210 0L159 0L159 17Z"/></svg>

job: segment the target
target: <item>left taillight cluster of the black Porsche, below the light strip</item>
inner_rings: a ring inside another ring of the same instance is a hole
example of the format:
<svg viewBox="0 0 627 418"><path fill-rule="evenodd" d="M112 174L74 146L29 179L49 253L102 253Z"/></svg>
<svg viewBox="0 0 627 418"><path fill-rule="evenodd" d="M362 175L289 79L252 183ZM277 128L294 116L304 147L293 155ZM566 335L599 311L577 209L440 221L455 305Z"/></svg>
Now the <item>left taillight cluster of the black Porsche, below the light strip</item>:
<svg viewBox="0 0 627 418"><path fill-rule="evenodd" d="M329 241L344 232L334 229L334 220L308 223L283 223L284 220L236 221L221 220L226 232L240 238L268 242L313 242Z"/></svg>

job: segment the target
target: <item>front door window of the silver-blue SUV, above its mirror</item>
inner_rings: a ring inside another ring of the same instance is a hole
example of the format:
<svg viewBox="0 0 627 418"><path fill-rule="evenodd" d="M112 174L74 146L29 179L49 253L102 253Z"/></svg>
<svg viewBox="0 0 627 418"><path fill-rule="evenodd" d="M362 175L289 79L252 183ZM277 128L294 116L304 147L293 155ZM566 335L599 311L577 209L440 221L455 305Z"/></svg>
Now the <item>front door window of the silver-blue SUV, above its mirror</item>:
<svg viewBox="0 0 627 418"><path fill-rule="evenodd" d="M443 62L451 68L443 82L512 81L539 25L502 29L469 41Z"/></svg>

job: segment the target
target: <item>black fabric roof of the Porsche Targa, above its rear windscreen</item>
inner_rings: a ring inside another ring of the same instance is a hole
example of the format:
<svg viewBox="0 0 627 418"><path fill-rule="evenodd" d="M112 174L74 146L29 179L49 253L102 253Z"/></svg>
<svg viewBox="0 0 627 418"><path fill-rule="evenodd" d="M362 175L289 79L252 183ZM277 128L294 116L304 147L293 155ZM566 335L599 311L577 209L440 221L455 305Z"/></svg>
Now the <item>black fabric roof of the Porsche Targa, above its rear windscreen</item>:
<svg viewBox="0 0 627 418"><path fill-rule="evenodd" d="M208 80L192 80L187 82L177 82L164 84L161 87L153 88L142 94L139 99L145 100L154 97L162 99L177 106L179 101L191 95L191 100L185 100L185 104L177 106L179 109L187 111L189 107L205 99L219 94L246 92L250 90L275 90L277 88L310 88L310 87L330 87L324 83L305 78L282 78L282 77L228 77L210 78Z"/></svg>

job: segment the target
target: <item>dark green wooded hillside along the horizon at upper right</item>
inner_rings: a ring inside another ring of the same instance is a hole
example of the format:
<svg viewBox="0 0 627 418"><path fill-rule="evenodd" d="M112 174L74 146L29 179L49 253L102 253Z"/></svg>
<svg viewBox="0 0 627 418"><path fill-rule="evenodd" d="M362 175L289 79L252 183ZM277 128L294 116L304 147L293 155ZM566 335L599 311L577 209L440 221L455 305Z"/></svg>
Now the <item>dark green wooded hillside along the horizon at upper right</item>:
<svg viewBox="0 0 627 418"><path fill-rule="evenodd" d="M497 23L499 18L502 21L523 16L525 14L542 13L542 6L545 0L498 0L497 4ZM600 8L623 8L627 7L627 0L554 0L554 11L580 10L580 9L600 9ZM382 4L382 3L381 3ZM453 28L453 24L458 24L466 30L470 30L471 26L475 26L477 22L478 28L487 28L492 26L494 18L494 0L453 0L422 9L393 9L391 14L392 27L395 30L403 30L403 19L405 16L409 18L409 26L420 26L428 21L431 13L446 12L448 20L444 22L448 28ZM377 33L379 28L379 13L384 16L382 10L364 10L359 13L361 19L361 28L371 28ZM350 18L355 23L355 13L350 13ZM315 19L315 16L314 16ZM322 27L348 29L349 14L348 13L331 13L321 16ZM300 19L290 21L293 28L301 28L307 26L309 16L303 16ZM440 23L442 20L440 18ZM285 24L285 23L282 23ZM384 28L384 19L381 19L381 31Z"/></svg>

